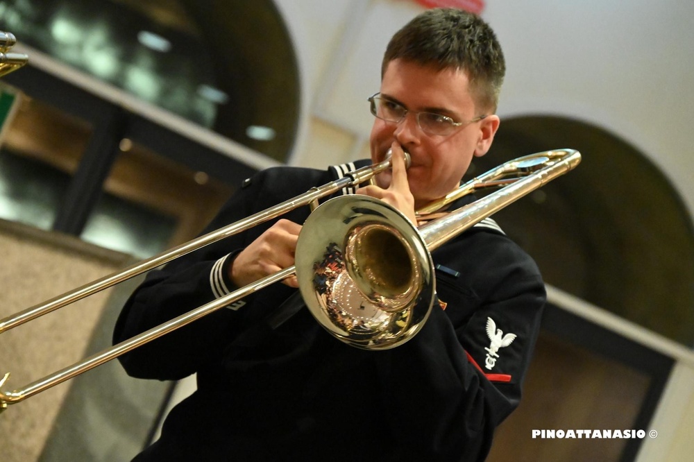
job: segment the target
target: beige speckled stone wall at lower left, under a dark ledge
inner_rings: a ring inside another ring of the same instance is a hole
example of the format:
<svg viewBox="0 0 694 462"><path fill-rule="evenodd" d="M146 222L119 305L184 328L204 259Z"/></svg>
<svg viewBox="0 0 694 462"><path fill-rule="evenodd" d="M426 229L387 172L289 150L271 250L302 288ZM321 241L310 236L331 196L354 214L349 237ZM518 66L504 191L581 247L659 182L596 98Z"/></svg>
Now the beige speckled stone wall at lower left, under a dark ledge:
<svg viewBox="0 0 694 462"><path fill-rule="evenodd" d="M7 221L0 221L0 255L1 318L117 271L130 259ZM1 334L0 374L11 373L3 391L25 388L81 361L107 298L108 291L96 294ZM69 386L12 404L0 415L3 462L37 460Z"/></svg>

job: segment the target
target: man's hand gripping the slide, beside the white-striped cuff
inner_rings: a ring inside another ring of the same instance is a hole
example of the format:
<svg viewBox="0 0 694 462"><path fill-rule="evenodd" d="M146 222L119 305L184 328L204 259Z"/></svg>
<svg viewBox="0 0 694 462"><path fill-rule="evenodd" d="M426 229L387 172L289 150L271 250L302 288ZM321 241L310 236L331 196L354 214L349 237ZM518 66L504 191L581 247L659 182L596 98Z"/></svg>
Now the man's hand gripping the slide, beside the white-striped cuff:
<svg viewBox="0 0 694 462"><path fill-rule="evenodd" d="M301 225L285 219L272 225L236 256L229 270L232 282L243 287L293 265L300 231ZM296 275L282 284L298 287Z"/></svg>

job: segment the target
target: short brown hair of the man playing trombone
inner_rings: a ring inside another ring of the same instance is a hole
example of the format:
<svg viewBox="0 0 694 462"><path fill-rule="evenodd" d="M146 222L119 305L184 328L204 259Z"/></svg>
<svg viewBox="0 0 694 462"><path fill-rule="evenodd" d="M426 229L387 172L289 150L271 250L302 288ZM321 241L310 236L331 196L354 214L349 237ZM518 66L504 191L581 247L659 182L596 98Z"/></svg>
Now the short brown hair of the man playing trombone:
<svg viewBox="0 0 694 462"><path fill-rule="evenodd" d="M389 62L402 59L434 69L462 69L475 103L496 112L506 64L496 34L480 17L455 8L426 10L389 42L381 78Z"/></svg>

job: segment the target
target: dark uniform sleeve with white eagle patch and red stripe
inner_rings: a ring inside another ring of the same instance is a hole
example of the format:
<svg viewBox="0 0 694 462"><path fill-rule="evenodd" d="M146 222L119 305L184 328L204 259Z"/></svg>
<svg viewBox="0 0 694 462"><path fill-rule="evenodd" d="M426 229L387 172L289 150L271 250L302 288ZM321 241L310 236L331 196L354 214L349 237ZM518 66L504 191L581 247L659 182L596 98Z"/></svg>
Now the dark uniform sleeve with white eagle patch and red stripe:
<svg viewBox="0 0 694 462"><path fill-rule="evenodd" d="M380 379L405 454L482 460L521 398L544 284L530 257L491 232L444 246L434 262L441 307L413 339L383 352Z"/></svg>

